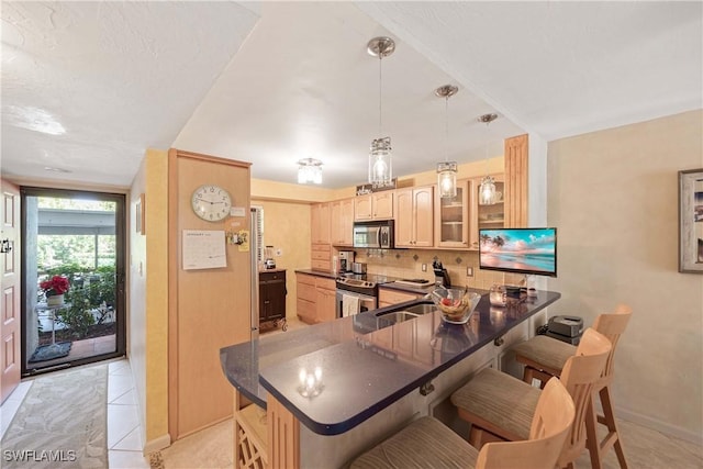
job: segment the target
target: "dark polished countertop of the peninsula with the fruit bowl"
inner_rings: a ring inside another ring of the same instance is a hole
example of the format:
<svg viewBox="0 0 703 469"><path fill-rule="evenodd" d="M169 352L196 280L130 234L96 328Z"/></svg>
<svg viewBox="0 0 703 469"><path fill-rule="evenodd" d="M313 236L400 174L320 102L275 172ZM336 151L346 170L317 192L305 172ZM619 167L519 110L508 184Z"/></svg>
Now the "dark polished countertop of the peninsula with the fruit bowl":
<svg viewBox="0 0 703 469"><path fill-rule="evenodd" d="M228 381L256 404L266 407L271 393L311 431L336 435L559 298L539 291L516 305L493 308L483 295L466 324L445 323L438 311L393 325L379 321L379 314L422 302L411 301L225 347L220 360Z"/></svg>

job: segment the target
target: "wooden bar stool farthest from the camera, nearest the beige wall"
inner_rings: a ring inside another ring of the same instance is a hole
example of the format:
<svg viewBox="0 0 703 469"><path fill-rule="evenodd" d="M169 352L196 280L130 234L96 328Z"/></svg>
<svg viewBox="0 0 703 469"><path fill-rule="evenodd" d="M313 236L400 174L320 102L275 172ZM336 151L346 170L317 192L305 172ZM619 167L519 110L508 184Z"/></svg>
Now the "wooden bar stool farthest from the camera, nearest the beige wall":
<svg viewBox="0 0 703 469"><path fill-rule="evenodd" d="M600 469L603 466L603 456L611 447L615 448L620 467L627 469L627 460L615 424L610 386L613 382L615 348L627 327L632 313L632 308L620 304L613 313L600 314L593 323L593 328L607 337L613 345L603 375L594 388L601 399L603 415L596 415L595 406L591 405L585 421L587 447L591 456L591 467L594 469ZM525 365L523 380L532 383L533 379L538 379L544 386L553 376L561 375L563 364L576 351L576 347L556 338L538 335L517 344L513 350L515 359ZM607 435L602 440L598 438L596 422L607 427Z"/></svg>

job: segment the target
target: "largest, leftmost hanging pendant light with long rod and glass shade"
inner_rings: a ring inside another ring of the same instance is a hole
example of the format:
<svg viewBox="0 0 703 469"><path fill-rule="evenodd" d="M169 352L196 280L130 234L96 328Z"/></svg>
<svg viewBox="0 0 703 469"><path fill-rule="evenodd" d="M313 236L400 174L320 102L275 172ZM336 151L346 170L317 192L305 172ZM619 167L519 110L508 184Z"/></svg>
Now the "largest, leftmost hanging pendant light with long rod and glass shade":
<svg viewBox="0 0 703 469"><path fill-rule="evenodd" d="M373 37L367 44L370 55L378 57L378 132L382 131L382 99L383 81L381 75L381 62L383 57L391 55L395 51L395 42L390 37ZM383 185L393 178L393 161L391 158L391 137L379 137L371 142L369 153L369 182L372 185Z"/></svg>

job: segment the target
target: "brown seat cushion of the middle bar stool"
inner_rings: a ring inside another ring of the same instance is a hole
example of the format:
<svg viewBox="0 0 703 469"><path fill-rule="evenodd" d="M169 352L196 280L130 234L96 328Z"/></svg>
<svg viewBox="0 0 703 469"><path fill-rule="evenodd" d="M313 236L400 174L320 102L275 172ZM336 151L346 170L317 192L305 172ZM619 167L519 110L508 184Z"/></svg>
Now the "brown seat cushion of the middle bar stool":
<svg viewBox="0 0 703 469"><path fill-rule="evenodd" d="M522 440L529 438L539 394L539 389L524 381L493 368L484 368L451 394L451 403L504 429L511 439Z"/></svg>

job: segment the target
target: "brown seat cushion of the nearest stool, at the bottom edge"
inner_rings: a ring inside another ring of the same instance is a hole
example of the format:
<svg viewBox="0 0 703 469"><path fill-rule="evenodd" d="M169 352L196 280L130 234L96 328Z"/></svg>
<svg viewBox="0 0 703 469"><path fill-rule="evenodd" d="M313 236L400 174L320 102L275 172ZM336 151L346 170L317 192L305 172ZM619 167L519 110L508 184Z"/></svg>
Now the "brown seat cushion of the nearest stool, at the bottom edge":
<svg viewBox="0 0 703 469"><path fill-rule="evenodd" d="M442 422L425 416L359 456L350 468L473 468L478 454Z"/></svg>

